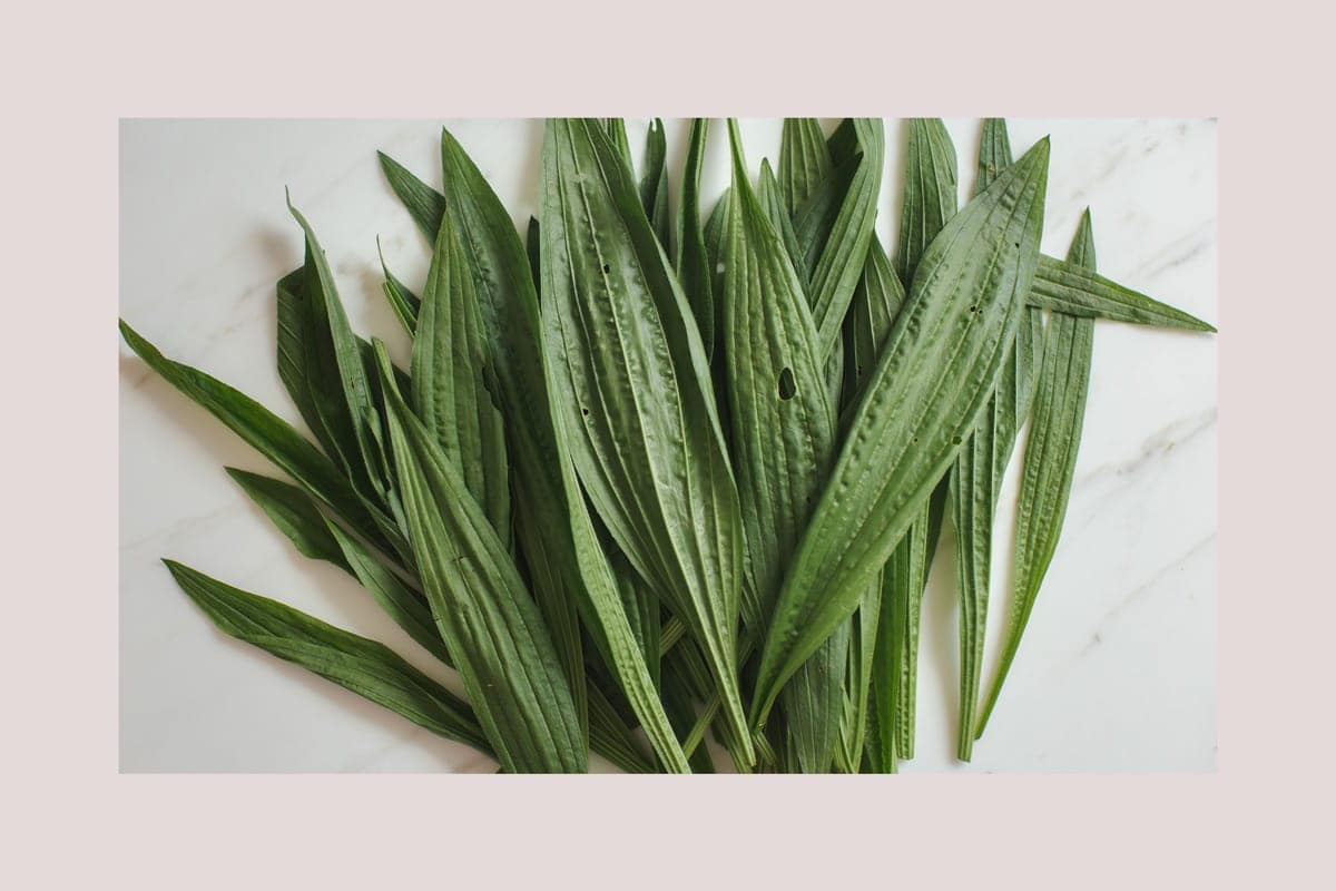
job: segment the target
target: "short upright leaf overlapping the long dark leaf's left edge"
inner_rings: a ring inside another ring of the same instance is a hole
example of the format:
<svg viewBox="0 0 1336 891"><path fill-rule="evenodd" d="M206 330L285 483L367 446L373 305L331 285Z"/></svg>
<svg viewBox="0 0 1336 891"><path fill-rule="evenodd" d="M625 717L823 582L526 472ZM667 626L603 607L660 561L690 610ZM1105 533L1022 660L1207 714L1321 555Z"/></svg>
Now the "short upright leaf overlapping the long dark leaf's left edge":
<svg viewBox="0 0 1336 891"><path fill-rule="evenodd" d="M510 478L501 413L486 387L482 318L464 248L441 222L413 339L413 409L464 477L504 541L510 540Z"/></svg>

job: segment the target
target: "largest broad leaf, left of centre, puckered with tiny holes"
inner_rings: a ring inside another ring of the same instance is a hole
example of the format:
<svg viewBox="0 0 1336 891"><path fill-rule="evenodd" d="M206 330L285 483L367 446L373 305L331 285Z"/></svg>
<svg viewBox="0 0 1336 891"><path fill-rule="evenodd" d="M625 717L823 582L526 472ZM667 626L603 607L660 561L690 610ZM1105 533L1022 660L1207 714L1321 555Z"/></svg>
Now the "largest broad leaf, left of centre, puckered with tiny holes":
<svg viewBox="0 0 1336 891"><path fill-rule="evenodd" d="M737 494L691 310L601 128L548 122L541 191L550 394L576 470L636 572L705 649L751 760L733 664Z"/></svg>

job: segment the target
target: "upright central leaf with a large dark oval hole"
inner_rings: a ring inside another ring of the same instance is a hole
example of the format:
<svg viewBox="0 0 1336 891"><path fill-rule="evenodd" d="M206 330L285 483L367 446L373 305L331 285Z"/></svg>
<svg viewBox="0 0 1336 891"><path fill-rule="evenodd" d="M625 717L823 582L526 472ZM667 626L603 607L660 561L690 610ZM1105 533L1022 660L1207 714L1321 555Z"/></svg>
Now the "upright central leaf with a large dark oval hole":
<svg viewBox="0 0 1336 891"><path fill-rule="evenodd" d="M728 131L733 175L724 239L724 359L747 542L744 590L752 602L744 612L748 625L764 629L830 468L835 409L803 286L748 182L737 124L729 120ZM786 699L807 772L824 772L835 756L847 651L847 633L832 637L799 669Z"/></svg>

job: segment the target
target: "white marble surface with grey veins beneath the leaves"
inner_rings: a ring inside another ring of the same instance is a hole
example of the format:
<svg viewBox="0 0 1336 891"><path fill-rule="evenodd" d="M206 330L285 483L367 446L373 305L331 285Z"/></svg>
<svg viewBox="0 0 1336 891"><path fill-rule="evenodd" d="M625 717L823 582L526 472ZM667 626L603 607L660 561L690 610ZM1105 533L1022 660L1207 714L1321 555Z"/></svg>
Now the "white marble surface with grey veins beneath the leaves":
<svg viewBox="0 0 1336 891"><path fill-rule="evenodd" d="M832 123L832 122L831 122ZM446 122L517 222L533 211L541 124ZM375 238L410 283L426 244L383 183L382 148L440 180L441 122L123 122L120 314L174 358L298 422L274 369L274 282L301 262L283 187L330 256L354 327L406 341L379 291ZM973 182L978 122L947 120ZM748 158L779 123L744 122ZM637 155L645 122L629 122ZM1213 120L1014 120L1018 152L1053 136L1043 250L1093 208L1100 271L1218 322ZM685 124L668 122L669 168ZM878 228L894 244L904 130L887 122ZM711 136L705 192L727 179ZM676 182L675 182L676 186ZM926 601L918 757L906 772L1213 771L1218 338L1101 323L1063 538L971 764L954 760L950 529ZM385 641L458 689L339 570L301 557L222 472L270 468L203 410L120 358L120 769L494 769L472 749L215 632L167 556ZM1002 492L990 653L1002 632L1015 466Z"/></svg>

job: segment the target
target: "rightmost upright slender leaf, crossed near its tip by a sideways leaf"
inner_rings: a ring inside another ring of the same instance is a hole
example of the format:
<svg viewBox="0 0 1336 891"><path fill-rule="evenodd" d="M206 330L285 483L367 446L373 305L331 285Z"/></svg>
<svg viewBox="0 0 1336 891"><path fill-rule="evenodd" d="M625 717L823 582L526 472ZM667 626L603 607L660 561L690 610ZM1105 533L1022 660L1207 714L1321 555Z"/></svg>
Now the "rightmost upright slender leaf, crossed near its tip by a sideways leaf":
<svg viewBox="0 0 1336 891"><path fill-rule="evenodd" d="M1085 270L1094 270L1094 236L1090 231L1089 211L1081 218L1081 227L1071 242L1067 262ZM1006 641L998 673L985 700L975 739L982 736L989 716L997 705L1043 576L1057 550L1058 537L1062 534L1062 520L1067 510L1067 496L1071 492L1081 426L1085 419L1093 341L1092 319L1062 313L1051 315L1035 382L1034 415L1030 418L1021 492L1017 497L1015 557Z"/></svg>

